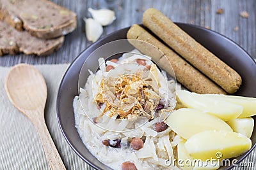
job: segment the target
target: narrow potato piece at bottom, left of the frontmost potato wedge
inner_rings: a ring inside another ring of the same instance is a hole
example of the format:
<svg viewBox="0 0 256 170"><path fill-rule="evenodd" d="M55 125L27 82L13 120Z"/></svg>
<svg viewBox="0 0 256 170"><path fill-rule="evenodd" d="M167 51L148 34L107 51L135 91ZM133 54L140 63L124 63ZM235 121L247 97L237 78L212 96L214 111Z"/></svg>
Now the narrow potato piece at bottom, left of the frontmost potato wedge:
<svg viewBox="0 0 256 170"><path fill-rule="evenodd" d="M180 160L179 163L179 167L182 170L191 170L193 169L193 159L190 157L190 155L188 154L187 150L185 149L185 140L184 141L180 141L180 143L178 144L177 147L177 152L178 152L178 160Z"/></svg>

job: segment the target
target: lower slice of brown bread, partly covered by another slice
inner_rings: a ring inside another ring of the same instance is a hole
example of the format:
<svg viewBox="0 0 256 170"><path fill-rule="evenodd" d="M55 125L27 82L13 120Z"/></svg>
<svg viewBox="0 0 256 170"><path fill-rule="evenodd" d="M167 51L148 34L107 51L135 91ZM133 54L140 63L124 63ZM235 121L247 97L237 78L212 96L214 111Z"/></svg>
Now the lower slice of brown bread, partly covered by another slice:
<svg viewBox="0 0 256 170"><path fill-rule="evenodd" d="M40 39L26 31L17 31L0 21L0 55L35 54L49 55L58 50L64 42L64 36L56 39Z"/></svg>

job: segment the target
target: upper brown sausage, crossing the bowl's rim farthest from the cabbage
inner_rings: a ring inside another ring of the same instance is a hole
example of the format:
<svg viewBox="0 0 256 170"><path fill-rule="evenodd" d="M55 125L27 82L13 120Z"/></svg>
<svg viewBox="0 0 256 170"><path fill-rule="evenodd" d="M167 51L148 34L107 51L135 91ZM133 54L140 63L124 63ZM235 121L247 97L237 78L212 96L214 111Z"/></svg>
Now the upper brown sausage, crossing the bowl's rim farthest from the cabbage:
<svg viewBox="0 0 256 170"><path fill-rule="evenodd" d="M163 13L154 8L148 9L143 14L143 25L226 92L233 94L239 89L241 76L182 31Z"/></svg>

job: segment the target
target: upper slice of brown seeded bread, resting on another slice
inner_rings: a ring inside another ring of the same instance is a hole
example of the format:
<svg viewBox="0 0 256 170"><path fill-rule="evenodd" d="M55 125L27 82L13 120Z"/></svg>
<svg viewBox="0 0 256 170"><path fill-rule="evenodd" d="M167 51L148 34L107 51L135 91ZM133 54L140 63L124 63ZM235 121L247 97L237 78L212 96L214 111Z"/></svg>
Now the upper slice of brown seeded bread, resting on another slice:
<svg viewBox="0 0 256 170"><path fill-rule="evenodd" d="M47 0L0 0L0 20L42 39L76 29L76 13Z"/></svg>

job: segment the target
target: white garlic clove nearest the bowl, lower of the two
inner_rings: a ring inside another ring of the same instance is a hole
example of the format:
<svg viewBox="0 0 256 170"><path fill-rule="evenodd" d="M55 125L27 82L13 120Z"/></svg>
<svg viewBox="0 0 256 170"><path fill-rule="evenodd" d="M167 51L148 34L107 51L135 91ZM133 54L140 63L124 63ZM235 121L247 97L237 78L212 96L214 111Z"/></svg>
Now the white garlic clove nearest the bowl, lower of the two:
<svg viewBox="0 0 256 170"><path fill-rule="evenodd" d="M103 27L99 24L99 22L93 20L93 18L84 18L84 22L86 37L89 41L94 43L100 38L103 32Z"/></svg>

